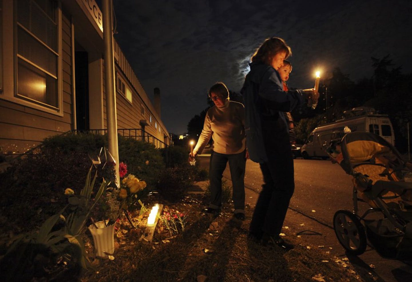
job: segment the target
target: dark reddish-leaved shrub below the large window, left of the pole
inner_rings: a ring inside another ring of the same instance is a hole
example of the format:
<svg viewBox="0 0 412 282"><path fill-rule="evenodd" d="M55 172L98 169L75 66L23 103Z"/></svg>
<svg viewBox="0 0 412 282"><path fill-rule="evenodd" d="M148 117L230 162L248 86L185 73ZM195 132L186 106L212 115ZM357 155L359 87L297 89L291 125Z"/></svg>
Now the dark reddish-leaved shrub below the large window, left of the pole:
<svg viewBox="0 0 412 282"><path fill-rule="evenodd" d="M87 154L63 153L60 148L42 148L38 154L16 161L0 175L2 214L13 218L3 227L13 229L10 225L14 224L23 228L20 231L28 231L60 210L66 203L66 188L80 193L90 163ZM102 175L113 175L112 169L107 166L100 171L98 182Z"/></svg>

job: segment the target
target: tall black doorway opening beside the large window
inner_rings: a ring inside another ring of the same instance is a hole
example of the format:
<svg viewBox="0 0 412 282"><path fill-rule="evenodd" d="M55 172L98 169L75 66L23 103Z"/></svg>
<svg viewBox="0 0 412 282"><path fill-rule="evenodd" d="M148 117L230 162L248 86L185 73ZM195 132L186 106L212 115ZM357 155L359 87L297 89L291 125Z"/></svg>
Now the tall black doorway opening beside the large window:
<svg viewBox="0 0 412 282"><path fill-rule="evenodd" d="M75 51L76 126L89 130L89 61L86 51Z"/></svg>

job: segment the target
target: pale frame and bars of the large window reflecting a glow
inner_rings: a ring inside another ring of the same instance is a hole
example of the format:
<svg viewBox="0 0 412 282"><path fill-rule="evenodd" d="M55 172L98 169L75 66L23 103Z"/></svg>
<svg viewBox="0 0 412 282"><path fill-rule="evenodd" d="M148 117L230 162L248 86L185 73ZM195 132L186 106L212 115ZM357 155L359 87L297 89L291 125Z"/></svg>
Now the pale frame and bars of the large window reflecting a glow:
<svg viewBox="0 0 412 282"><path fill-rule="evenodd" d="M37 5L35 3L34 5ZM23 106L27 107L32 107L37 110L40 110L42 112L48 112L50 114L55 114L58 116L63 117L63 71L62 71L62 57L61 54L63 52L62 50L62 31L61 31L61 26L62 26L62 14L61 14L61 2L58 1L56 5L56 40L57 40L57 52L52 50L47 44L42 42L37 36L35 36L33 33L28 31L21 23L18 22L18 11L17 11L17 1L14 1L14 10L13 10L13 15L14 15L14 21L13 21L13 86L14 90L12 91L11 95L5 95L3 98L6 100L10 100L14 103L18 103ZM37 101L35 99L32 99L30 97L22 96L18 93L18 77L17 77L17 70L18 70L18 61L19 59L23 60L24 62L28 63L29 65L33 66L40 72L44 72L46 75L50 75L49 72L38 66L36 63L30 61L28 58L24 58L23 56L19 55L18 53L18 46L17 46L17 33L19 28L21 28L24 32L28 33L29 36L31 36L34 40L39 42L40 44L44 45L45 48L48 50L52 50L53 53L56 55L57 59L57 70L56 70L56 88L57 88L57 100L56 104L57 107L53 105L49 105L46 103L43 103L41 101Z"/></svg>

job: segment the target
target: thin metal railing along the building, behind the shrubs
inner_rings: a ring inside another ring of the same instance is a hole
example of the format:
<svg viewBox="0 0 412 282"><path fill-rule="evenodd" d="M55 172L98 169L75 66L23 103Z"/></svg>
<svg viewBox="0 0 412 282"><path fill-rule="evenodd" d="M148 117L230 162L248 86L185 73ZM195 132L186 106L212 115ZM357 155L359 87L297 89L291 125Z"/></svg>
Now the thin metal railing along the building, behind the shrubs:
<svg viewBox="0 0 412 282"><path fill-rule="evenodd" d="M72 130L73 133L91 133L91 134L106 134L107 129L87 129L87 130ZM162 140L156 138L143 131L141 128L118 128L117 133L126 138L133 138L134 140L144 141L155 145L156 148L162 149L168 147L168 145Z"/></svg>

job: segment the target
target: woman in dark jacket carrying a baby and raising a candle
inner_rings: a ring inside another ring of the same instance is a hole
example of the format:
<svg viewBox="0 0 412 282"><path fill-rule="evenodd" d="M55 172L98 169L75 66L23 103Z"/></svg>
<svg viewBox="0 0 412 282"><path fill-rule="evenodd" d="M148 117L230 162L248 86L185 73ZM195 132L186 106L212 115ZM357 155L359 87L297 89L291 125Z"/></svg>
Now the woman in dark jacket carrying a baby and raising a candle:
<svg viewBox="0 0 412 282"><path fill-rule="evenodd" d="M283 90L278 70L291 54L283 39L265 40L251 58L250 72L241 90L249 156L260 163L264 181L250 222L249 237L262 245L275 244L284 249L293 248L279 234L295 183L288 124L283 112L292 111L304 99L317 101L319 97L314 89Z"/></svg>

